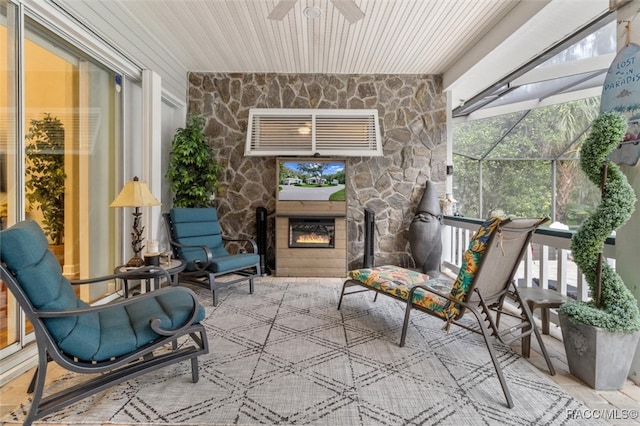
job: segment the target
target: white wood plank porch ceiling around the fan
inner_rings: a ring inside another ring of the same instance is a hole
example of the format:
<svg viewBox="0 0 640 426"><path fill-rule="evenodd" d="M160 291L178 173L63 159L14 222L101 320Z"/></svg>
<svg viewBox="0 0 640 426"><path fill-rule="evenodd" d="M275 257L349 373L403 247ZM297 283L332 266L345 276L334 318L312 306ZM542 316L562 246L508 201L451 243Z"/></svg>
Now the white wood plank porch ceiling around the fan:
<svg viewBox="0 0 640 426"><path fill-rule="evenodd" d="M277 0L88 3L119 3L137 23L129 31L192 71L441 74L518 1L356 0L365 17L353 24L329 0L295 1L282 20L268 19Z"/></svg>

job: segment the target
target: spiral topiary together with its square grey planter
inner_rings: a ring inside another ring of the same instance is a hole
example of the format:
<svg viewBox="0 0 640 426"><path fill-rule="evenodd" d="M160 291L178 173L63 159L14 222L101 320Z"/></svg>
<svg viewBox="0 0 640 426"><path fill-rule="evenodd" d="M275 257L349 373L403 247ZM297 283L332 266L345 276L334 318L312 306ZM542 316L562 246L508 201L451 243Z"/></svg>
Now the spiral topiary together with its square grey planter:
<svg viewBox="0 0 640 426"><path fill-rule="evenodd" d="M638 303L622 278L603 261L604 242L635 209L636 195L626 176L607 157L622 141L626 118L608 112L596 119L582 146L580 167L599 185L602 200L571 241L592 300L560 307L560 325L571 374L594 389L620 389L629 374L640 338Z"/></svg>

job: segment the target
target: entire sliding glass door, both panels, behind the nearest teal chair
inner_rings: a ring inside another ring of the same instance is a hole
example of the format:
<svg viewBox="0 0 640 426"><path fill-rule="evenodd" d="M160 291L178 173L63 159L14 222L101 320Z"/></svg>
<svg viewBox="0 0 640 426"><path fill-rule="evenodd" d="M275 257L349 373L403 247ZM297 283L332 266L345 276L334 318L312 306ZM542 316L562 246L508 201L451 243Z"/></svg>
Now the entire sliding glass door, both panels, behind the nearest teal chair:
<svg viewBox="0 0 640 426"><path fill-rule="evenodd" d="M40 224L69 279L110 274L119 258L109 203L118 182L120 78L28 18L20 37L16 6L0 0L0 10L0 226ZM114 291L106 283L77 293L93 302ZM24 347L30 331L2 286L0 359Z"/></svg>

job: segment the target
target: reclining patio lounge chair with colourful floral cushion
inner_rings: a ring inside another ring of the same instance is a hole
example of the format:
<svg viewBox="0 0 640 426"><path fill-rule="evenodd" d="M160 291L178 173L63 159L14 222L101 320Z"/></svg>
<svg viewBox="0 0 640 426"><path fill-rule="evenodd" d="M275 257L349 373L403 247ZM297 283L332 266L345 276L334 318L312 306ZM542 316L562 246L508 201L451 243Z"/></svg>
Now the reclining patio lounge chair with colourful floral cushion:
<svg viewBox="0 0 640 426"><path fill-rule="evenodd" d="M533 333L550 374L555 375L555 369L531 311L519 297L513 281L534 231L545 221L546 218L490 218L480 226L470 241L455 280L444 277L429 279L424 274L395 266L350 271L342 288L338 309L344 295L364 291L345 292L347 288L362 286L365 290L373 290L406 303L400 346L405 345L413 310L439 318L444 322L443 329L447 332L453 324L481 334L502 386L507 406L512 408L513 400L491 344L491 337L509 345ZM504 302L507 296L515 301L519 313L505 309ZM407 303L409 300L411 303ZM471 315L465 315L467 312ZM517 323L509 324L508 328L501 330L500 315L515 318ZM469 325L468 321L461 321L467 317L475 318L474 325Z"/></svg>

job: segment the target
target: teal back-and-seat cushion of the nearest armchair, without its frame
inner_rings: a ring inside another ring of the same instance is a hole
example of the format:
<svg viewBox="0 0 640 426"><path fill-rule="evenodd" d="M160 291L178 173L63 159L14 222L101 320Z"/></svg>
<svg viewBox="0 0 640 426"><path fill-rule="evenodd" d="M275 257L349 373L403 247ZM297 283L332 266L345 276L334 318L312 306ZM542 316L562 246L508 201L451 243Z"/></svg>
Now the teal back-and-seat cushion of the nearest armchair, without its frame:
<svg viewBox="0 0 640 426"><path fill-rule="evenodd" d="M35 222L21 222L0 234L2 261L16 276L34 309L63 311L88 307L62 275L60 264L48 250L47 239ZM83 361L104 361L158 339L160 336L149 325L151 318L160 319L162 328L177 328L189 318L192 308L191 296L176 290L155 298L134 299L126 307L47 318L44 324L67 355ZM204 308L199 305L196 321L203 318Z"/></svg>

